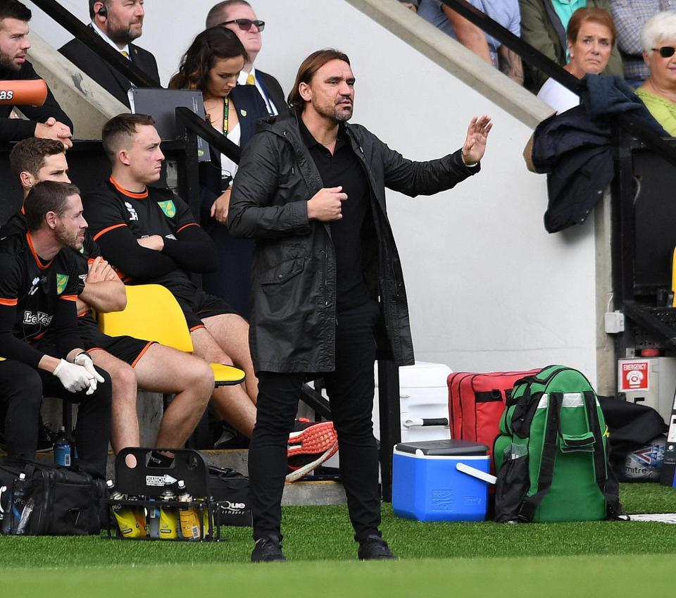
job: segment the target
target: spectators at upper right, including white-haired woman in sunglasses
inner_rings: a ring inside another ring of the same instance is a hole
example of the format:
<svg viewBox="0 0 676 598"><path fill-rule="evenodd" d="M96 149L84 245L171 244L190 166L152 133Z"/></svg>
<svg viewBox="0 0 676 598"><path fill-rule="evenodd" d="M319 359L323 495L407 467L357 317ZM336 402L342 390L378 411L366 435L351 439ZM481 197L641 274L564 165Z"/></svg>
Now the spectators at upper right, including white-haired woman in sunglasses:
<svg viewBox="0 0 676 598"><path fill-rule="evenodd" d="M400 1L557 111L579 103L575 94L537 68L522 65L518 55L442 1ZM615 75L639 88L638 96L672 134L664 121L675 111L674 84L667 76L672 69L667 59L673 56L667 55L668 48L676 44L675 0L468 1L575 77ZM587 11L572 18L580 8Z"/></svg>

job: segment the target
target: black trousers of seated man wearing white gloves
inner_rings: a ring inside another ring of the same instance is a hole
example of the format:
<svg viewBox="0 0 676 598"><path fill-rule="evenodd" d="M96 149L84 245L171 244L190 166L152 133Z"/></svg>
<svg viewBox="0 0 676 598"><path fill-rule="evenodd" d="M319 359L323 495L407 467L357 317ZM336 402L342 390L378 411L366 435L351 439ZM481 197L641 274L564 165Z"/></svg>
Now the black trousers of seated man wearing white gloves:
<svg viewBox="0 0 676 598"><path fill-rule="evenodd" d="M104 378L96 392L68 392L53 374L35 370L19 361L0 361L0 402L5 412L5 439L13 456L35 459L37 426L43 395L78 404L75 445L80 464L104 478L111 436L111 378Z"/></svg>

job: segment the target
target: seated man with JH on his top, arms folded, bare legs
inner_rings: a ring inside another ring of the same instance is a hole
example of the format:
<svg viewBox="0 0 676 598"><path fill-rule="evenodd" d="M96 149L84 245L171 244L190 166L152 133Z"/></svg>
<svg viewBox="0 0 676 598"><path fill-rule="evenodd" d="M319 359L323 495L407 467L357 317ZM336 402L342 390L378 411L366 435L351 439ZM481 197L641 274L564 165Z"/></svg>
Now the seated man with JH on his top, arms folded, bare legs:
<svg viewBox="0 0 676 598"><path fill-rule="evenodd" d="M206 294L192 273L215 268L213 241L180 197L157 182L164 155L150 116L120 114L104 125L101 141L112 175L84 197L94 239L127 284L156 283L176 297L194 352L210 363L246 373L242 385L213 390L217 415L246 437L256 421L258 387L249 354L249 325L218 297Z"/></svg>

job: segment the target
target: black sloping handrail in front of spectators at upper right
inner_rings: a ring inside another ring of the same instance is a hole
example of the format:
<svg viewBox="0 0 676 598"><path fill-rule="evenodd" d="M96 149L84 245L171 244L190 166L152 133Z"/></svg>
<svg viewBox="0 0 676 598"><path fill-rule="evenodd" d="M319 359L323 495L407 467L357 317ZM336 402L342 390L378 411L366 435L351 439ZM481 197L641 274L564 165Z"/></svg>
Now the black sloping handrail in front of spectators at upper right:
<svg viewBox="0 0 676 598"><path fill-rule="evenodd" d="M553 80L560 83L566 89L578 94L584 89L584 83L577 77L568 73L565 68L559 66L551 58L542 54L541 51L524 42L523 39L514 35L500 23L485 15L475 6L469 4L467 0L441 0L449 8L456 11L459 15L469 20L484 32L497 39L501 44L506 45L511 51L518 54L522 60L525 60L531 66L539 68ZM666 161L676 166L676 149L666 144L656 132L647 127L636 116L628 113L611 115L609 118L618 123L622 128L638 137L642 142L649 146L656 154L659 154Z"/></svg>

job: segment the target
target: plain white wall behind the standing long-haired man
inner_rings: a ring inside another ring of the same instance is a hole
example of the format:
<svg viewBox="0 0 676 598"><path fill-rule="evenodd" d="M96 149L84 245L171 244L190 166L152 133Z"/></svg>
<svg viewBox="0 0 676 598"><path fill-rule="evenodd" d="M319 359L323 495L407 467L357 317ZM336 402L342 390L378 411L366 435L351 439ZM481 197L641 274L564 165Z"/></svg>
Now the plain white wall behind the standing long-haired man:
<svg viewBox="0 0 676 598"><path fill-rule="evenodd" d="M62 4L88 20L86 0ZM211 4L146 0L140 44L154 52L163 83ZM565 363L594 380L593 224L544 231L546 182L527 173L521 158L531 131L344 0L252 4L266 22L257 66L289 92L307 54L342 49L357 79L353 121L409 158L461 147L474 114L494 119L480 174L437 197L389 193L417 359L456 371ZM32 27L57 47L65 43L69 36L40 12Z"/></svg>

